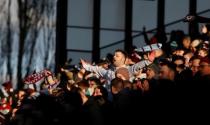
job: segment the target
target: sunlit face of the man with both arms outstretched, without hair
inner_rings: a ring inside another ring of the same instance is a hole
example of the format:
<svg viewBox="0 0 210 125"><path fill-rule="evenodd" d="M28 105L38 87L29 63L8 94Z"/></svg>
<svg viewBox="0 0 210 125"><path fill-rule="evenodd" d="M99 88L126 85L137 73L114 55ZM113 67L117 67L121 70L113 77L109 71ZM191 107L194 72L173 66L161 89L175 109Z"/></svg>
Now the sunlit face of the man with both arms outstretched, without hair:
<svg viewBox="0 0 210 125"><path fill-rule="evenodd" d="M120 67L125 64L125 56L121 52L115 52L113 57L113 64Z"/></svg>

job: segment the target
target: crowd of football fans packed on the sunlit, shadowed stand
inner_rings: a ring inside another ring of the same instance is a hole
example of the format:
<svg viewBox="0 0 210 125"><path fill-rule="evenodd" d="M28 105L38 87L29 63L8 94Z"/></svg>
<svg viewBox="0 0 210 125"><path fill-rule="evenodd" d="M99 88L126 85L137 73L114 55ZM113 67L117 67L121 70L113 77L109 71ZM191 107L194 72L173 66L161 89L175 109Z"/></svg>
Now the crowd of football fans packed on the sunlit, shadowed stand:
<svg viewBox="0 0 210 125"><path fill-rule="evenodd" d="M209 46L210 25L206 24L193 39L173 31L162 48L116 50L96 64L81 59L79 68L65 65L56 76L44 70L48 75L43 79L35 73L32 79L39 80L25 83L21 90L4 83L1 123L149 123L156 118L186 120L186 114L193 117L196 111L203 114L210 95Z"/></svg>

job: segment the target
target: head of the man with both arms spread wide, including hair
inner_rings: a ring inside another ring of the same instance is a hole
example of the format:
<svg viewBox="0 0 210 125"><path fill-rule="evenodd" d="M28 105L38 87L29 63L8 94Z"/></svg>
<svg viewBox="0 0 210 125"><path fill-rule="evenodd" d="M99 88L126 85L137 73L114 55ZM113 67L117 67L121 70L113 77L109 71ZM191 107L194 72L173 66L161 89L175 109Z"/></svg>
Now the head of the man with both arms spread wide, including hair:
<svg viewBox="0 0 210 125"><path fill-rule="evenodd" d="M116 67L122 67L125 65L125 61L127 58L127 53L123 50L116 50L113 57L113 64Z"/></svg>

